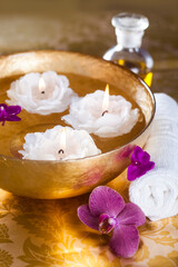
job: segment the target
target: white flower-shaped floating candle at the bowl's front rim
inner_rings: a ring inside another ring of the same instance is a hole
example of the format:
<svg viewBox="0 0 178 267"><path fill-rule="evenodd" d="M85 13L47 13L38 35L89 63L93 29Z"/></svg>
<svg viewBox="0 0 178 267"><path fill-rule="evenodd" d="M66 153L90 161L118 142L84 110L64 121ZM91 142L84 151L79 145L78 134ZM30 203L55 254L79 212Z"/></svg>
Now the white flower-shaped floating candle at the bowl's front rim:
<svg viewBox="0 0 178 267"><path fill-rule="evenodd" d="M23 159L67 160L79 159L101 151L86 130L73 130L70 127L56 126L44 132L27 134Z"/></svg>

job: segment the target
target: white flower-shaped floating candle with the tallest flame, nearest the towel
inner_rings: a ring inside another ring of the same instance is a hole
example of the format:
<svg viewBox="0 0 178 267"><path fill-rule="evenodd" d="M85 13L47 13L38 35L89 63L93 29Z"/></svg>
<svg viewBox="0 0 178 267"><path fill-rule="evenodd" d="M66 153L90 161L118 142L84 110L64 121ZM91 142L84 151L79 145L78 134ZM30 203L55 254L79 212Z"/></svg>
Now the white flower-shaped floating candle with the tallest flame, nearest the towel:
<svg viewBox="0 0 178 267"><path fill-rule="evenodd" d="M109 96L97 90L83 98L73 98L70 113L62 119L76 129L85 129L99 137L117 137L128 134L137 123L139 110L121 96Z"/></svg>

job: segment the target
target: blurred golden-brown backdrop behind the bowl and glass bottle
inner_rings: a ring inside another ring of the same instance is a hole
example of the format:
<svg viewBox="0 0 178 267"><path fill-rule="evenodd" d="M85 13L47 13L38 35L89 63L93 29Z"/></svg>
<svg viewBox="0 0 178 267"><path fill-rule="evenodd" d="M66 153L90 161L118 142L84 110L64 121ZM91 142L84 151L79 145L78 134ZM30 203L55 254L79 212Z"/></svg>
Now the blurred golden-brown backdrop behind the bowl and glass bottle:
<svg viewBox="0 0 178 267"><path fill-rule="evenodd" d="M0 0L0 53L59 49L98 57L116 44L111 18L148 17L144 48L155 60L154 91L178 100L178 0Z"/></svg>

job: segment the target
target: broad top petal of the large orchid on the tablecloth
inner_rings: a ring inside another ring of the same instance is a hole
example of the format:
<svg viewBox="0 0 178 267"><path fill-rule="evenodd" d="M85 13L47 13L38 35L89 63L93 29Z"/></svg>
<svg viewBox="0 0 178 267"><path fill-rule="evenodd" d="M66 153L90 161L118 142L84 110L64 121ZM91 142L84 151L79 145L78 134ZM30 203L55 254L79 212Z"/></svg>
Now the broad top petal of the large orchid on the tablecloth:
<svg viewBox="0 0 178 267"><path fill-rule="evenodd" d="M125 201L122 197L109 187L99 186L90 194L89 208L93 216L106 214L117 217L123 207Z"/></svg>

